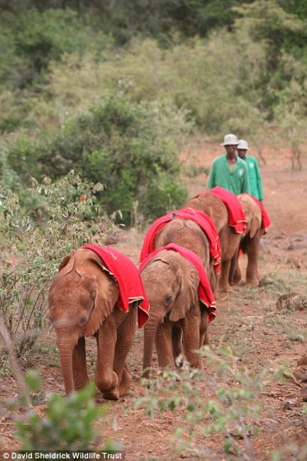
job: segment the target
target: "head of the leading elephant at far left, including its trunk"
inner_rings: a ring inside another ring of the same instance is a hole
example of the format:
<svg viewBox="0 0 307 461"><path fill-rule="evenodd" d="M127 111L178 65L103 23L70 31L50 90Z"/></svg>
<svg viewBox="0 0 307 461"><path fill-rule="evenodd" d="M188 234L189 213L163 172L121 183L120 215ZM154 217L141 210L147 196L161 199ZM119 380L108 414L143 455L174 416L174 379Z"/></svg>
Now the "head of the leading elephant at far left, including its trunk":
<svg viewBox="0 0 307 461"><path fill-rule="evenodd" d="M79 338L99 330L117 299L116 282L94 252L80 248L62 260L50 284L49 312L66 394L74 390L73 354Z"/></svg>

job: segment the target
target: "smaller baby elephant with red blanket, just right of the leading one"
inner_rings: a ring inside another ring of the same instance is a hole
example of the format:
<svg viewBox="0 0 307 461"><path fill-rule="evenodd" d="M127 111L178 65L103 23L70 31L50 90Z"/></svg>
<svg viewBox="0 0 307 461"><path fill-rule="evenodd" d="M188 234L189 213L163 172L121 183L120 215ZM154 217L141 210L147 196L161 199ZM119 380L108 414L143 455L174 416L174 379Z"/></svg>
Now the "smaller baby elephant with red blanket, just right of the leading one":
<svg viewBox="0 0 307 461"><path fill-rule="evenodd" d="M150 303L143 376L149 377L154 343L160 367L174 367L183 348L190 365L201 368L199 348L216 303L200 258L171 243L147 256L140 272Z"/></svg>

